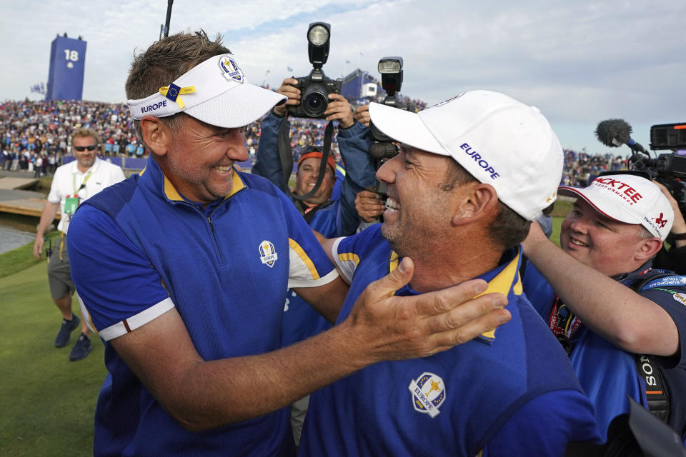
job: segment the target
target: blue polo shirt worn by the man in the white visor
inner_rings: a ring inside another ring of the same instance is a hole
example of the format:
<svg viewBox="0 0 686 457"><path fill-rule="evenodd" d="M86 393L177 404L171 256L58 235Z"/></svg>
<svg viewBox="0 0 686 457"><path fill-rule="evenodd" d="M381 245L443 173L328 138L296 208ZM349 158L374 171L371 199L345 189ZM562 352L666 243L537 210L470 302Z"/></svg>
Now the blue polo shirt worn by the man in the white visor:
<svg viewBox="0 0 686 457"><path fill-rule="evenodd" d="M175 307L206 361L274 351L287 288L337 277L281 191L250 174L236 173L233 184L204 209L179 195L149 159L140 175L74 214L71 273L86 317L105 341L109 371L96 408L96 456L292 454L287 408L186 431L107 343Z"/></svg>

